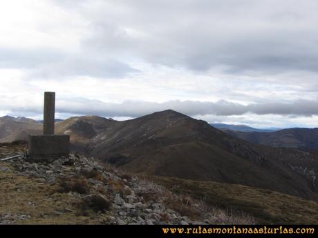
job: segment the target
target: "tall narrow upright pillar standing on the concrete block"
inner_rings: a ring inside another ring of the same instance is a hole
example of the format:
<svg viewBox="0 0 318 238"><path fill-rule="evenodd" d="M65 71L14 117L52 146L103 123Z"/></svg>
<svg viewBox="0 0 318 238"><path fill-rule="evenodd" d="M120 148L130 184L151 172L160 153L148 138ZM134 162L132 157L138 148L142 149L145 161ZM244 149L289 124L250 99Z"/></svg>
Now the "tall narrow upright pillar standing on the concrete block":
<svg viewBox="0 0 318 238"><path fill-rule="evenodd" d="M55 92L44 92L44 135L54 135Z"/></svg>

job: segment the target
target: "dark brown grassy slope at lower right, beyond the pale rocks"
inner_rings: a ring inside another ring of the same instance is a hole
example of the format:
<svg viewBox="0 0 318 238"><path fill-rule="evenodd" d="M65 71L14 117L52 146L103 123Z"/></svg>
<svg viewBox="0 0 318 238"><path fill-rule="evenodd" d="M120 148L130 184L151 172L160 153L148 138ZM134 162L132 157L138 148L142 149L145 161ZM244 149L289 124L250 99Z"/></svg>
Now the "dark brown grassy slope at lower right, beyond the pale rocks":
<svg viewBox="0 0 318 238"><path fill-rule="evenodd" d="M235 184L149 177L174 192L208 204L248 212L261 224L318 224L318 203L279 192Z"/></svg>

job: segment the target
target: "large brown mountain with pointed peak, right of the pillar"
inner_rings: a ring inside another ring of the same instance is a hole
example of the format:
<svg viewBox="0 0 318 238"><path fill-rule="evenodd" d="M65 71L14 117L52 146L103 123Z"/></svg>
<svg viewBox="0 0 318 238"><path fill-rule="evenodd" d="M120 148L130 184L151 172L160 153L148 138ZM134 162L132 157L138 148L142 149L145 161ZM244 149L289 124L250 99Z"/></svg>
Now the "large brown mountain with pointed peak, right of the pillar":
<svg viewBox="0 0 318 238"><path fill-rule="evenodd" d="M127 121L71 117L55 128L71 135L74 150L130 172L242 184L318 201L318 152L256 145L173 110Z"/></svg>

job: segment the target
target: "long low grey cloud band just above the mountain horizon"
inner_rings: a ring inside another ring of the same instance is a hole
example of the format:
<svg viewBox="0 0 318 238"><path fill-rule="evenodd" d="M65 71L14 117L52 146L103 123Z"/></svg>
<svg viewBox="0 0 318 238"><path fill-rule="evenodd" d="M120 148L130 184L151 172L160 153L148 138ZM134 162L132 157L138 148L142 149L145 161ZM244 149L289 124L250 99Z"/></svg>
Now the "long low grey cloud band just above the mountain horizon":
<svg viewBox="0 0 318 238"><path fill-rule="evenodd" d="M252 113L255 115L305 116L318 115L318 101L297 100L290 103L253 103L242 105L230 101L166 101L155 103L148 101L123 101L122 103L104 103L98 100L73 98L57 101L57 113L68 115L100 115L104 117L140 117L152 112L172 109L185 115L232 116ZM37 109L36 109L37 108ZM12 112L39 112L42 106L28 108L19 105L3 105L3 110ZM15 112L15 115L17 113ZM23 113L21 114L23 115Z"/></svg>

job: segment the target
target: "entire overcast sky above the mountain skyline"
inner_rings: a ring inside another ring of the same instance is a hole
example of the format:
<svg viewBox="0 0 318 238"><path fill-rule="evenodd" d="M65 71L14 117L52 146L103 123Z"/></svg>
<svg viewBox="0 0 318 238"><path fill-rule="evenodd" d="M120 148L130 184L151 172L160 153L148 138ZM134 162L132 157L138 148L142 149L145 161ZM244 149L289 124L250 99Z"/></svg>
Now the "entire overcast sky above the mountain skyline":
<svg viewBox="0 0 318 238"><path fill-rule="evenodd" d="M0 6L0 116L318 127L316 0L10 0Z"/></svg>

